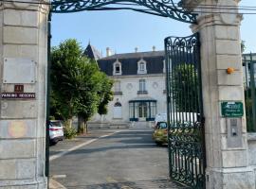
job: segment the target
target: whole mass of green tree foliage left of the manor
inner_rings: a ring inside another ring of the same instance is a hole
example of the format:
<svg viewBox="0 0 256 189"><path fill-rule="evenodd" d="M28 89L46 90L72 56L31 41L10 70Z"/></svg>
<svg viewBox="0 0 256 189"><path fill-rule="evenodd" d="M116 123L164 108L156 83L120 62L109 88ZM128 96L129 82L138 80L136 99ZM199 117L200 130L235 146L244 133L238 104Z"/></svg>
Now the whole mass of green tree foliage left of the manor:
<svg viewBox="0 0 256 189"><path fill-rule="evenodd" d="M64 120L77 115L87 122L96 112L106 113L113 81L99 70L96 61L83 57L76 40L53 47L51 62L52 115Z"/></svg>

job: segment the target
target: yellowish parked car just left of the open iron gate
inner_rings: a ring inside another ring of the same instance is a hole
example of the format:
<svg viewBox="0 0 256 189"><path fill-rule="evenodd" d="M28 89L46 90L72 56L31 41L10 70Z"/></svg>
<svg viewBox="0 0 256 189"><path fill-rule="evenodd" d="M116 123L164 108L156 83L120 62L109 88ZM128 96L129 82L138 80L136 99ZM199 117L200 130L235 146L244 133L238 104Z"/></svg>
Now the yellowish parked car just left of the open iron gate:
<svg viewBox="0 0 256 189"><path fill-rule="evenodd" d="M168 130L166 122L157 122L152 138L156 145L163 145L168 143Z"/></svg>

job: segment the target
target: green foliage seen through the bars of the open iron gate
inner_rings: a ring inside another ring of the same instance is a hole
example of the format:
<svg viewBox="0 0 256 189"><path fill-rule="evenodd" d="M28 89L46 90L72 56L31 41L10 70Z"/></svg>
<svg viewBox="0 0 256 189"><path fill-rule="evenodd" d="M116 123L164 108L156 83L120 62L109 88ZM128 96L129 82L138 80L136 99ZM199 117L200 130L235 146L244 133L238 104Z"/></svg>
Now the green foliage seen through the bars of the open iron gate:
<svg viewBox="0 0 256 189"><path fill-rule="evenodd" d="M180 63L172 71L171 87L177 112L196 112L198 104L197 72L194 65Z"/></svg>

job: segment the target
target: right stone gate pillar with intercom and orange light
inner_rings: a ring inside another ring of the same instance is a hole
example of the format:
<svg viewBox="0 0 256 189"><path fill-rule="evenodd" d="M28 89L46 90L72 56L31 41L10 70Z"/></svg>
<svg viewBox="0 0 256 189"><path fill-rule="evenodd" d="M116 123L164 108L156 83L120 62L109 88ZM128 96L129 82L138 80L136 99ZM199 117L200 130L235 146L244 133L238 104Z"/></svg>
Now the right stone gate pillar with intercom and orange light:
<svg viewBox="0 0 256 189"><path fill-rule="evenodd" d="M187 8L201 11L198 25L193 25L192 30L200 32L201 41L207 188L255 189L254 172L248 165L245 115L234 118L232 125L231 118L221 112L222 102L242 102L245 106L240 44L242 16L237 10L225 7L237 8L239 0L185 2ZM227 74L229 67L234 68L231 74Z"/></svg>

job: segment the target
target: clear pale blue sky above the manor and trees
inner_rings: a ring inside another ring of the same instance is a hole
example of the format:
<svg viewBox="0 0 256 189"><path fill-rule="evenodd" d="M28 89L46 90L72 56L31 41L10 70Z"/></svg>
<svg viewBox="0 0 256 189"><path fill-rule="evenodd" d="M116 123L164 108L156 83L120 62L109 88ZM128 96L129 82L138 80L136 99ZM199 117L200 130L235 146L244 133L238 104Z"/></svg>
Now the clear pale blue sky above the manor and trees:
<svg viewBox="0 0 256 189"><path fill-rule="evenodd" d="M242 0L241 6L256 7L256 0ZM255 11L256 12L256 11ZM88 42L105 55L106 47L113 53L150 51L164 48L167 36L192 34L189 24L129 10L82 11L53 14L52 45L75 38L85 48ZM246 41L246 52L256 52L256 15L245 15L241 26L241 38Z"/></svg>

